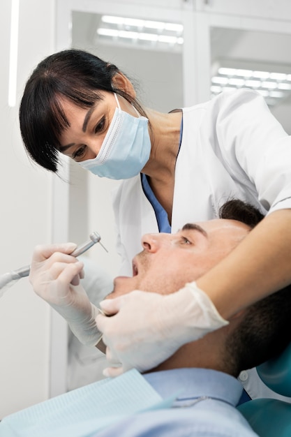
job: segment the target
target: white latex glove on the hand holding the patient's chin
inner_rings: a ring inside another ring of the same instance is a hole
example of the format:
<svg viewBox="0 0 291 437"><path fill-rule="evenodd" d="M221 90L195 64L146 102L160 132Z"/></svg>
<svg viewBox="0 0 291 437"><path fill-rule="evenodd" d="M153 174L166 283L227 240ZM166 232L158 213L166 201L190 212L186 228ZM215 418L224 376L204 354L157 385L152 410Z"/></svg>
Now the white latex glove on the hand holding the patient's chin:
<svg viewBox="0 0 291 437"><path fill-rule="evenodd" d="M171 295L136 290L104 300L100 308L115 314L96 318L112 366L105 369L105 376L131 368L153 369L185 343L228 324L195 282Z"/></svg>

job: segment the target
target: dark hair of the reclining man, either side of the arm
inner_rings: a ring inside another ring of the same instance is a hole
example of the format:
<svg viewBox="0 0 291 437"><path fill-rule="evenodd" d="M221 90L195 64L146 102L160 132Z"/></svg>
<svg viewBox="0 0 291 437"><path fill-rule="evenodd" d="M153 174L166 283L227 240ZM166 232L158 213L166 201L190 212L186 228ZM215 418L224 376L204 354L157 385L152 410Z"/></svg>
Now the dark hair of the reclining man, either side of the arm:
<svg viewBox="0 0 291 437"><path fill-rule="evenodd" d="M220 209L221 218L254 228L263 214L253 205L230 200ZM235 283L234 283L235 288ZM251 369L281 353L291 341L291 285L249 306L239 325L227 337L225 366L230 373Z"/></svg>

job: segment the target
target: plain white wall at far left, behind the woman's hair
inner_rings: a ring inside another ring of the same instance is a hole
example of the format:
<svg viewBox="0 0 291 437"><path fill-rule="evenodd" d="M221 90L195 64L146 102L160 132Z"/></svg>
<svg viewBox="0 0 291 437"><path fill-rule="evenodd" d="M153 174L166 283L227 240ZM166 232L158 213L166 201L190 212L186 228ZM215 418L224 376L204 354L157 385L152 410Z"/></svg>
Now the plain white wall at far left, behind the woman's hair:
<svg viewBox="0 0 291 437"><path fill-rule="evenodd" d="M0 274L27 265L33 247L51 239L51 176L31 165L18 127L24 82L54 51L54 0L20 0L17 106L8 108L11 0L1 0ZM45 20L44 20L45 17ZM22 279L0 299L0 419L47 399L50 309Z"/></svg>

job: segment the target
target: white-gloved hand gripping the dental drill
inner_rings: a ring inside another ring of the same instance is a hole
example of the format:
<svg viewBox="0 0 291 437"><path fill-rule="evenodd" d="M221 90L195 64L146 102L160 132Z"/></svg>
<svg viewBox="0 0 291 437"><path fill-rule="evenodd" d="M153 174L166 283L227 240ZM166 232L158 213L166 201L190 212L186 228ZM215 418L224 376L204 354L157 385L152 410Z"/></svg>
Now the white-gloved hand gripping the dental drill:
<svg viewBox="0 0 291 437"><path fill-rule="evenodd" d="M98 309L80 286L83 263L69 255L75 248L73 243L36 246L29 280L36 294L67 320L81 343L95 346L102 336L95 322Z"/></svg>

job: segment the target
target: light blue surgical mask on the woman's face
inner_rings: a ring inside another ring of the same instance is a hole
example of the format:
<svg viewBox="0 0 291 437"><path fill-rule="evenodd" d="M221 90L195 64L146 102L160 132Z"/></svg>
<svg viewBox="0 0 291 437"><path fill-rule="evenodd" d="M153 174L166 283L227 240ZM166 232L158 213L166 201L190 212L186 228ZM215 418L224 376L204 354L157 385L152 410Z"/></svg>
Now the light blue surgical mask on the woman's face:
<svg viewBox="0 0 291 437"><path fill-rule="evenodd" d="M133 117L121 110L117 95L114 96L118 108L114 112L98 155L78 164L100 177L129 179L138 175L149 161L149 120L145 117Z"/></svg>

